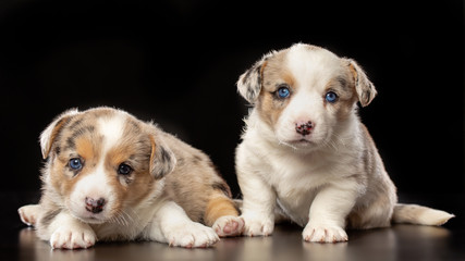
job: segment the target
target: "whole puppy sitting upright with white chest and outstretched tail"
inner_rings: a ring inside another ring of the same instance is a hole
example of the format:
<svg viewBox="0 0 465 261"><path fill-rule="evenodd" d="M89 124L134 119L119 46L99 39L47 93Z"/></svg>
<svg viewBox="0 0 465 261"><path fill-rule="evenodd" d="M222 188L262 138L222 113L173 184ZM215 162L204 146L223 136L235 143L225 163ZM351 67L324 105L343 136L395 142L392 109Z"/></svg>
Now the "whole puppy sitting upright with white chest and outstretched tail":
<svg viewBox="0 0 465 261"><path fill-rule="evenodd" d="M346 241L346 226L440 225L453 215L397 204L371 137L357 116L376 89L351 59L309 45L265 55L237 82L253 104L236 150L244 234L270 235L278 206L306 241Z"/></svg>

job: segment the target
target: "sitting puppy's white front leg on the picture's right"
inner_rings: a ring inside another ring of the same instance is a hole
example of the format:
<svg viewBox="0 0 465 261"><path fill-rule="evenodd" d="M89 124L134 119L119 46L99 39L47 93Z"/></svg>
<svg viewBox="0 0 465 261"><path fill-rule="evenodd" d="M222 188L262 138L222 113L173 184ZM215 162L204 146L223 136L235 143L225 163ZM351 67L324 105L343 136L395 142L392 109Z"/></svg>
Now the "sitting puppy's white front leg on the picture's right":
<svg viewBox="0 0 465 261"><path fill-rule="evenodd" d="M345 217L355 204L357 194L347 188L328 186L315 197L309 212L309 221L304 228L306 241L346 241Z"/></svg>

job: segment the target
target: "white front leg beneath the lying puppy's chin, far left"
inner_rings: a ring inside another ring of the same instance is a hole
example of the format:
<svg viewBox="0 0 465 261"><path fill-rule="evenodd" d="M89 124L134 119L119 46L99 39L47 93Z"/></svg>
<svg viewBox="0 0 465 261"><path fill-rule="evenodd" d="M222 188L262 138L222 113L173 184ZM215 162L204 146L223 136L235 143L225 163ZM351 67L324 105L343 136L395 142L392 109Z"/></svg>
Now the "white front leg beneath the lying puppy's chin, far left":
<svg viewBox="0 0 465 261"><path fill-rule="evenodd" d="M40 237L50 236L50 246L54 248L77 249L89 248L97 241L97 236L93 228L71 214L61 212L58 214L45 231L39 231Z"/></svg>

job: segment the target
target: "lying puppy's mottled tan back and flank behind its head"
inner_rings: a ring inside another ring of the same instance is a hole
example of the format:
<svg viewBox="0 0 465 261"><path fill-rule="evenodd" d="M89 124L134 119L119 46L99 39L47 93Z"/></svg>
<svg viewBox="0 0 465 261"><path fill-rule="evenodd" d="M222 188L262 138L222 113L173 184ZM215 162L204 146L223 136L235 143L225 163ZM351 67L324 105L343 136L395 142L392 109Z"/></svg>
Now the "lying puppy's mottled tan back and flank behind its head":
<svg viewBox="0 0 465 261"><path fill-rule="evenodd" d="M166 189L187 215L211 226L223 215L238 215L231 189L207 154L163 133L176 158L174 171L167 175Z"/></svg>

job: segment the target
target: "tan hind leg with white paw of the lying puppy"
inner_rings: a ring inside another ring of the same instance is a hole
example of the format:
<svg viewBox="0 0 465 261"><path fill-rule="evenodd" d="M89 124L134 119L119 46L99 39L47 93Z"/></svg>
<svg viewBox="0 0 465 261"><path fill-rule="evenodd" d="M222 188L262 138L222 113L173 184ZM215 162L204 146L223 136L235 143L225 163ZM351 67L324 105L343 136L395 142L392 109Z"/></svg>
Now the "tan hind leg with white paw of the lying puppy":
<svg viewBox="0 0 465 261"><path fill-rule="evenodd" d="M238 217L238 211L233 200L221 191L215 191L211 196L204 221L220 237L238 236L244 231L244 220Z"/></svg>

